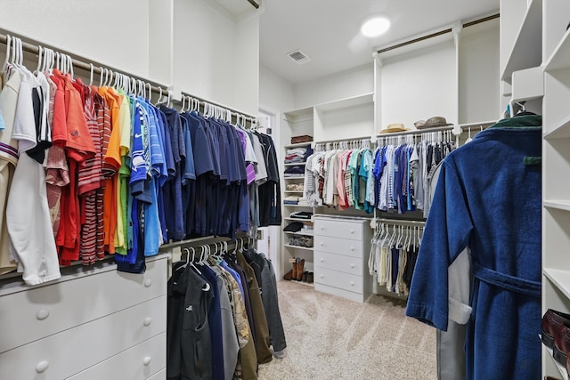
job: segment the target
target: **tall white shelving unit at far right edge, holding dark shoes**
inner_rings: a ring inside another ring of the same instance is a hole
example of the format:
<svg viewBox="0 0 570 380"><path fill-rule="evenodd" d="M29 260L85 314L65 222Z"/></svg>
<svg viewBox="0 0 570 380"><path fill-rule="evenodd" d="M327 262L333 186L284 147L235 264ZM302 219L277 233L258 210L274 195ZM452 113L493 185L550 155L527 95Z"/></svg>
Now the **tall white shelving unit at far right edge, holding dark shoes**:
<svg viewBox="0 0 570 380"><path fill-rule="evenodd" d="M542 312L570 312L570 2L542 0ZM567 379L546 347L542 374Z"/></svg>

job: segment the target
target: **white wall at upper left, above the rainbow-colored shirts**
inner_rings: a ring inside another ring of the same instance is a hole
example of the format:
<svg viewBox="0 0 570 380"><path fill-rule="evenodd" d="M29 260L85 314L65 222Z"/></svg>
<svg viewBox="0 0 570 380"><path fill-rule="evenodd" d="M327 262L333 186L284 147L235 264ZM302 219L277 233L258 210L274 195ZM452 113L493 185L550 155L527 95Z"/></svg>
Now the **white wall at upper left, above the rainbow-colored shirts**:
<svg viewBox="0 0 570 380"><path fill-rule="evenodd" d="M148 77L148 4L148 0L0 0L0 27Z"/></svg>

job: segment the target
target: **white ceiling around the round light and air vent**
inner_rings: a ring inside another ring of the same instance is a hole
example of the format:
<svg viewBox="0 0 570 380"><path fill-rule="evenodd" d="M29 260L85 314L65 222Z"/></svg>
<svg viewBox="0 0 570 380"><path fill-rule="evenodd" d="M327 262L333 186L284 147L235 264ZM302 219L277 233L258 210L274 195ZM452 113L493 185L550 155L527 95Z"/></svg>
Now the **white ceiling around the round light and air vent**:
<svg viewBox="0 0 570 380"><path fill-rule="evenodd" d="M293 84L372 62L378 47L415 38L456 21L499 12L499 0L264 0L259 24L259 60ZM384 36L360 35L362 20L384 15ZM295 50L311 61L297 64Z"/></svg>

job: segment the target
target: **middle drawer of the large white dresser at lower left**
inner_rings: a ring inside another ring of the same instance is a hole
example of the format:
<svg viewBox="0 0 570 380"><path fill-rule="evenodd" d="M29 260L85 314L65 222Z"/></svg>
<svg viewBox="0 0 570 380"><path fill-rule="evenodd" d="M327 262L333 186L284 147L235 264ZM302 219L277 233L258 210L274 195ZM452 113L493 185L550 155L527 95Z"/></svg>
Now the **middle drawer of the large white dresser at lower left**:
<svg viewBox="0 0 570 380"><path fill-rule="evenodd" d="M0 354L0 379L61 380L164 333L166 327L167 295L161 295Z"/></svg>

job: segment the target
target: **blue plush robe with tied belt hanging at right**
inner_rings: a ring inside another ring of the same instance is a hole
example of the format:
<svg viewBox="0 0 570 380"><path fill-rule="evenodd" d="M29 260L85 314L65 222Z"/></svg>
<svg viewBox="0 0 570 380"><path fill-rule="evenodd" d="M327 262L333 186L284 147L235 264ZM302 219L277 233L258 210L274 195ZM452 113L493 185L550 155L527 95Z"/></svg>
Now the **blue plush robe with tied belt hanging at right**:
<svg viewBox="0 0 570 380"><path fill-rule="evenodd" d="M503 119L441 168L406 315L447 329L448 267L469 247L467 379L541 377L541 125Z"/></svg>

